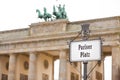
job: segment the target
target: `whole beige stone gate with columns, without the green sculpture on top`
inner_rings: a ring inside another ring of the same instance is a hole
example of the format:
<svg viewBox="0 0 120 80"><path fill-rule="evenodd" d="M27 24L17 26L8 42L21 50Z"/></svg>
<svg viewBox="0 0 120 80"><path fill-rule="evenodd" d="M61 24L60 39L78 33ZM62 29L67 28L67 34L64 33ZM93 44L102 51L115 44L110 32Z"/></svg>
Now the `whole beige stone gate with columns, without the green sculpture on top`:
<svg viewBox="0 0 120 80"><path fill-rule="evenodd" d="M112 56L112 80L120 80L120 17L70 22L38 22L29 28L0 32L0 80L54 80L59 59L59 80L82 80L82 63L69 61L69 42L90 24L89 39L102 40L102 60L89 80L104 80L104 59ZM79 36L75 41L81 40ZM88 72L97 61L88 62ZM109 74L109 73L108 73Z"/></svg>

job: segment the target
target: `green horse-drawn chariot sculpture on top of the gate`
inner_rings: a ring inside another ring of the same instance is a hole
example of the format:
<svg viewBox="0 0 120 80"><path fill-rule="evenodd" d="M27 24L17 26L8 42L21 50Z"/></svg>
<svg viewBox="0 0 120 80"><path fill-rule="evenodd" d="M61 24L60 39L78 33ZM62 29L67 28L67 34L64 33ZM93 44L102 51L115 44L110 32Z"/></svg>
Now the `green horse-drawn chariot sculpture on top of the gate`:
<svg viewBox="0 0 120 80"><path fill-rule="evenodd" d="M52 20L56 20L56 19L67 19L67 13L65 11L65 5L61 6L59 4L59 6L57 6L57 10L56 7L53 6L53 12L52 14L47 12L47 9L44 7L43 8L44 13L41 14L40 10L36 10L36 12L38 13L38 18L40 19L44 19L45 21L52 21Z"/></svg>

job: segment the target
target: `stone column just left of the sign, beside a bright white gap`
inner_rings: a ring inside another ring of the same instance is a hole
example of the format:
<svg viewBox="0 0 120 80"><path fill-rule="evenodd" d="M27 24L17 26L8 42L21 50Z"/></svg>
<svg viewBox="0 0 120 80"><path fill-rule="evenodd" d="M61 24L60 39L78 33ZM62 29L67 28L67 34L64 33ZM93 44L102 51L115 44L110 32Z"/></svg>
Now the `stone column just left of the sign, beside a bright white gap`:
<svg viewBox="0 0 120 80"><path fill-rule="evenodd" d="M59 53L60 69L59 80L67 80L67 57L66 51L61 50Z"/></svg>

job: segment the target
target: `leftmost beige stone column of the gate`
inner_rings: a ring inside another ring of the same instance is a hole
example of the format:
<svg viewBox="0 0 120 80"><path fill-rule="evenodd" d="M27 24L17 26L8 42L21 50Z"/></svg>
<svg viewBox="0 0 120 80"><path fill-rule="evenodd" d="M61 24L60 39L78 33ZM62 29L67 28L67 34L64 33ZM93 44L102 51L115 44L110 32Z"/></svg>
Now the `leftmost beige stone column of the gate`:
<svg viewBox="0 0 120 80"><path fill-rule="evenodd" d="M8 80L16 80L16 55L10 54L9 57L9 72L8 72Z"/></svg>

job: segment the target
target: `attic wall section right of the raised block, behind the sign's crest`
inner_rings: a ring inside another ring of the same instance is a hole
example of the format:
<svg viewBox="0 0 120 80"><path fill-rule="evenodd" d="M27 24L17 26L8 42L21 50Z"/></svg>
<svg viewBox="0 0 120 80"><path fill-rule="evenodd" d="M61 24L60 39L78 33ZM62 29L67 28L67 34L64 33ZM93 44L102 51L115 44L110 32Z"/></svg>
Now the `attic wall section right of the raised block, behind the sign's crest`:
<svg viewBox="0 0 120 80"><path fill-rule="evenodd" d="M79 31L81 30L81 24L89 23L90 30L104 30L120 27L120 17L109 17L85 21L70 22L67 25L67 31Z"/></svg>

